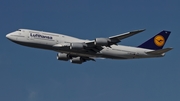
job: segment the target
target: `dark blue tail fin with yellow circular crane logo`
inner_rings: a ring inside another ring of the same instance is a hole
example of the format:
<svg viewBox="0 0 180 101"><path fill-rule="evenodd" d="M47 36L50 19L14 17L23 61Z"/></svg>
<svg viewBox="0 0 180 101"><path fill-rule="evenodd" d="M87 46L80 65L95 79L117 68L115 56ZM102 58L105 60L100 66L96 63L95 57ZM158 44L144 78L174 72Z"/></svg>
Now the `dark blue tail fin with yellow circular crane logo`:
<svg viewBox="0 0 180 101"><path fill-rule="evenodd" d="M170 31L161 31L160 33L158 33L157 35L155 35L148 41L139 45L138 47L146 48L146 49L153 49L153 50L162 49L170 33L171 33Z"/></svg>

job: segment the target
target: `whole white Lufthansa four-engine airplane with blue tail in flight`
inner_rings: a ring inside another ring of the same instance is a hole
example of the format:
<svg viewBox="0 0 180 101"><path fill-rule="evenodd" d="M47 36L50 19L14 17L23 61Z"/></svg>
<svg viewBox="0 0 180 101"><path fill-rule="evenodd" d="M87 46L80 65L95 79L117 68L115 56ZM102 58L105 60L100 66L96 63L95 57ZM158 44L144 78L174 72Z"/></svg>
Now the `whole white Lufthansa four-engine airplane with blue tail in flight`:
<svg viewBox="0 0 180 101"><path fill-rule="evenodd" d="M75 64L100 59L139 59L163 57L166 52L173 48L164 48L170 31L161 31L137 47L118 45L121 40L145 31L145 29L126 32L123 34L83 40L63 34L44 31L19 29L6 35L10 41L20 45L53 50L58 52L57 59Z"/></svg>

